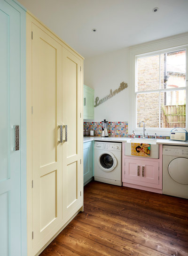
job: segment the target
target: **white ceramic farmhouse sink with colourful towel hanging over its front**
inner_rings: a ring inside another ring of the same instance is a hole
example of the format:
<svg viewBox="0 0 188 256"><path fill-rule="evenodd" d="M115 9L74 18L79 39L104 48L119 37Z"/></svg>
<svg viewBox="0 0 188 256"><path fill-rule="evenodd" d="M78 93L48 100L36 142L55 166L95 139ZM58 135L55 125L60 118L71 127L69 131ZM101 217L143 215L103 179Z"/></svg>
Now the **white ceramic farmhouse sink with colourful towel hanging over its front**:
<svg viewBox="0 0 188 256"><path fill-rule="evenodd" d="M125 155L132 155L131 154L131 143L146 143L150 144L150 155L147 158L159 158L159 145L157 144L156 139L142 139L142 138L135 138L135 139L130 139L127 140L125 143ZM136 157L141 157L141 156L136 156Z"/></svg>

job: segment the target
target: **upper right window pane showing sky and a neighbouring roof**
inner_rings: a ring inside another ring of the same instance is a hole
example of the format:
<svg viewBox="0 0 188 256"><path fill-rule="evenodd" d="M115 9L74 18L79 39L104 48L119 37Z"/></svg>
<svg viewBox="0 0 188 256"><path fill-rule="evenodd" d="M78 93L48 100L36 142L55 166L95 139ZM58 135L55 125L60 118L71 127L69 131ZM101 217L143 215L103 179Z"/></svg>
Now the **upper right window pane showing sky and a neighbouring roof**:
<svg viewBox="0 0 188 256"><path fill-rule="evenodd" d="M161 54L161 88L186 86L186 51Z"/></svg>

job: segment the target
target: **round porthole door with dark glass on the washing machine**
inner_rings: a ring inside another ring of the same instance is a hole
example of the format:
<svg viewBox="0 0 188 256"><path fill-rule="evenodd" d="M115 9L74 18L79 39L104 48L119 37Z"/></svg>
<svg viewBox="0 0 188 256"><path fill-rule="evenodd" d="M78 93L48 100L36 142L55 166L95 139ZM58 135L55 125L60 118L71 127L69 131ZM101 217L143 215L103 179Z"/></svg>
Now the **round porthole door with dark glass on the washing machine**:
<svg viewBox="0 0 188 256"><path fill-rule="evenodd" d="M117 159L111 152L104 151L99 156L98 164L102 171L113 171L117 166Z"/></svg>

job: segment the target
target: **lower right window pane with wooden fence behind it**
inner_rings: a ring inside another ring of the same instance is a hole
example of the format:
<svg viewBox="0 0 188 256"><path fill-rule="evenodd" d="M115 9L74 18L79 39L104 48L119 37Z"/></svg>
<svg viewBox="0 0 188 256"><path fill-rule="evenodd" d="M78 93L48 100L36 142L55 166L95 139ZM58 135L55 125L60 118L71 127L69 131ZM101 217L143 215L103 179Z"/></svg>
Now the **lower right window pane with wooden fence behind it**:
<svg viewBox="0 0 188 256"><path fill-rule="evenodd" d="M186 90L161 93L161 128L186 126Z"/></svg>

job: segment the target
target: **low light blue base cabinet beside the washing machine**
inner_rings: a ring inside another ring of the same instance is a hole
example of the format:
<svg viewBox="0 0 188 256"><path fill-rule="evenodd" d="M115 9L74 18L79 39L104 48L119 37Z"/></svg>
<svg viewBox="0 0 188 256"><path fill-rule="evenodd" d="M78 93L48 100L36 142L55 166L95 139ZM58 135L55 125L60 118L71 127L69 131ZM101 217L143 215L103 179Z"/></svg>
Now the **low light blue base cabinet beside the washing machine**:
<svg viewBox="0 0 188 256"><path fill-rule="evenodd" d="M84 186L93 179L94 142L84 143Z"/></svg>

